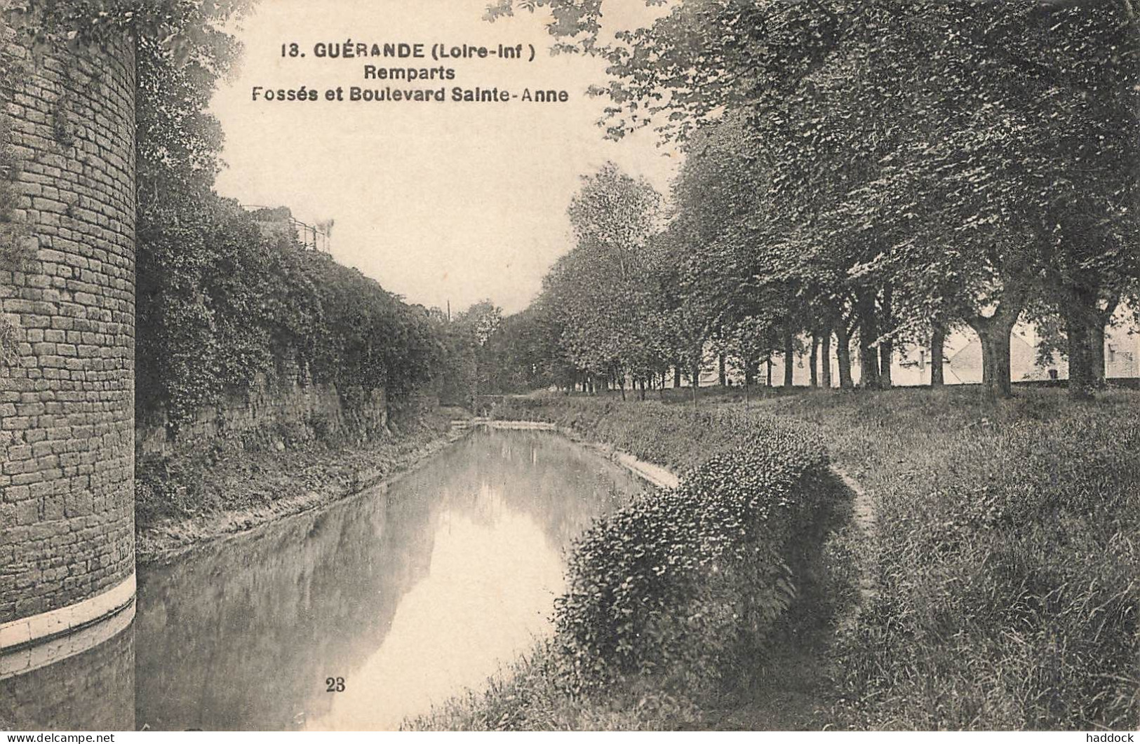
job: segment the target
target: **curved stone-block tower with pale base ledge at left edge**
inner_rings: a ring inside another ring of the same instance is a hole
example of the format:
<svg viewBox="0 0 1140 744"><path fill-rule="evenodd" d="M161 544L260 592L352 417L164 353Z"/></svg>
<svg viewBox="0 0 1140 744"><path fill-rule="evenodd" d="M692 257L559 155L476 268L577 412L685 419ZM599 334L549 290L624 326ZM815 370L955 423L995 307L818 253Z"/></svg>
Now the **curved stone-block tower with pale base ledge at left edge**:
<svg viewBox="0 0 1140 744"><path fill-rule="evenodd" d="M22 67L0 85L5 218L28 256L0 264L16 341L0 362L0 652L22 649L5 669L48 654L36 640L129 622L135 592L133 44L33 56L13 39L0 24Z"/></svg>

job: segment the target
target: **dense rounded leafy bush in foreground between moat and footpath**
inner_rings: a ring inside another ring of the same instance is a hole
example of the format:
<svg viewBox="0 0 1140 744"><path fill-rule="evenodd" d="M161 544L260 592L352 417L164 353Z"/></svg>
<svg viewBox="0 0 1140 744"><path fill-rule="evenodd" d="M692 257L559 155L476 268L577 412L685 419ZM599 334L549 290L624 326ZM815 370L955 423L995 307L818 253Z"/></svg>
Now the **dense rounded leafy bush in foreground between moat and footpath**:
<svg viewBox="0 0 1140 744"><path fill-rule="evenodd" d="M571 686L683 664L715 678L756 659L790 604L789 541L812 518L823 459L756 435L643 493L576 543L556 603Z"/></svg>

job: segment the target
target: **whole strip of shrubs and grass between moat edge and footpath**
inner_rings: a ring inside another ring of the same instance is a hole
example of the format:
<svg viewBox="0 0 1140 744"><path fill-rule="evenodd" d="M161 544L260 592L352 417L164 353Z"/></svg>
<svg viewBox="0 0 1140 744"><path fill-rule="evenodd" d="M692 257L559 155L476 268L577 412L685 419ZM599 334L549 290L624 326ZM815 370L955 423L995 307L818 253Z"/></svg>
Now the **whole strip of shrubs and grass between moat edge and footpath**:
<svg viewBox="0 0 1140 744"><path fill-rule="evenodd" d="M502 403L685 471L575 543L554 637L515 676L413 728L671 728L763 668L798 588L801 548L839 491L798 426L726 411L559 398ZM703 455L702 455L703 453ZM711 457L708 456L711 453Z"/></svg>

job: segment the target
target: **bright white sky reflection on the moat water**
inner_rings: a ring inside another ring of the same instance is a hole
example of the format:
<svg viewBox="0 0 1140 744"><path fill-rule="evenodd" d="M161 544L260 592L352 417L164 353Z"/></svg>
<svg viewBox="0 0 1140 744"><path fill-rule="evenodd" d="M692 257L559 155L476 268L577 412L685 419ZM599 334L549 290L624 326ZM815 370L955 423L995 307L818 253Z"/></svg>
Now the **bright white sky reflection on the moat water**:
<svg viewBox="0 0 1140 744"><path fill-rule="evenodd" d="M545 630L562 589L561 556L498 490L483 484L479 502L494 520L442 515L427 575L404 596L380 649L308 728L397 728L405 716L480 686Z"/></svg>

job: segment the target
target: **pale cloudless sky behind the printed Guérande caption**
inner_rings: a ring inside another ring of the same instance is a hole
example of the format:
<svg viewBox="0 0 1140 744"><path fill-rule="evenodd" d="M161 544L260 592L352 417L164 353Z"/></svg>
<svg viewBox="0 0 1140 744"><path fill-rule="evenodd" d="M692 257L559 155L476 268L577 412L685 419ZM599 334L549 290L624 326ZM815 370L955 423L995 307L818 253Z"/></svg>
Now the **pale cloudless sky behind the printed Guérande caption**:
<svg viewBox="0 0 1140 744"><path fill-rule="evenodd" d="M604 63L552 57L539 14L482 21L488 0L261 0L241 23L245 55L212 111L226 131L228 169L218 190L244 204L285 205L312 223L335 219L333 254L409 302L461 310L490 299L523 309L570 247L565 209L578 177L606 160L667 191L679 163L652 131L621 142L595 122ZM606 28L649 15L642 0L611 0ZM612 15L620 8L627 16ZM365 64L437 66L433 60L318 59L317 42L532 43L532 63L459 59L445 83L365 81ZM295 41L303 59L283 59ZM266 88L454 85L564 88L568 104L252 101Z"/></svg>

